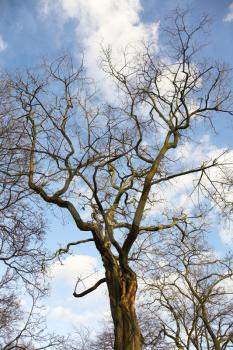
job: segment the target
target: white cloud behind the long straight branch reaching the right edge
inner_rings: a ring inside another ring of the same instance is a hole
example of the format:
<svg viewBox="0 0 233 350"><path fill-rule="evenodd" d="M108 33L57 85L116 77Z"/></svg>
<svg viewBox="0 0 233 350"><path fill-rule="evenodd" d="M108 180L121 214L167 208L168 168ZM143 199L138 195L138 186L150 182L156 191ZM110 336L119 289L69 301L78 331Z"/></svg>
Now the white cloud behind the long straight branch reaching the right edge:
<svg viewBox="0 0 233 350"><path fill-rule="evenodd" d="M226 179L226 181L228 179L229 181L233 176L233 150L226 152L226 149L218 148L211 142L208 135L204 135L198 143L187 141L178 146L175 158L177 159L176 165L179 166L179 168L174 167L174 173L194 169L200 167L202 164L210 165L217 159L218 164L221 166L212 167L208 169L206 173L212 183L214 183L215 188L223 194L224 198L229 203L233 201L232 191L229 191L227 185L221 183L222 180L225 181L224 179ZM202 188L202 191L198 191L197 189L193 191L200 176L201 172L190 173L185 176L174 178L169 182L156 184L152 193L155 202L152 207L148 204L148 215L150 215L150 217L161 213L177 215L179 212L184 212L189 215L194 208L198 208L199 204L207 204L207 190L209 194L212 192L214 193L214 187L206 176L202 176L201 183L204 185L205 189ZM204 193L206 196L204 196ZM224 203L221 201L221 197L216 197L216 200L218 200L219 206L223 208ZM209 203L211 204L211 202L212 200L210 199Z"/></svg>

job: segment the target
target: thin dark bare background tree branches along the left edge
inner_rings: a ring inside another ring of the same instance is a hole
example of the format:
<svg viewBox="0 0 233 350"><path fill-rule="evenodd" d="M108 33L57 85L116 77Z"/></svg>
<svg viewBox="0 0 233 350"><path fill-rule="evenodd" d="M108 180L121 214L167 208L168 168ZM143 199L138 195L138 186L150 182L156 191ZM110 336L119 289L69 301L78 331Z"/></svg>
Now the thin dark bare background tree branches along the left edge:
<svg viewBox="0 0 233 350"><path fill-rule="evenodd" d="M42 316L45 221L25 190L27 153L15 152L26 135L12 118L9 80L1 76L0 84L0 348L58 349L65 339L49 335Z"/></svg>

